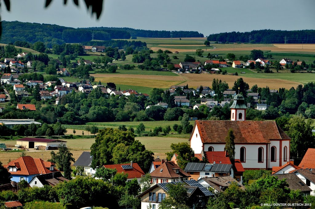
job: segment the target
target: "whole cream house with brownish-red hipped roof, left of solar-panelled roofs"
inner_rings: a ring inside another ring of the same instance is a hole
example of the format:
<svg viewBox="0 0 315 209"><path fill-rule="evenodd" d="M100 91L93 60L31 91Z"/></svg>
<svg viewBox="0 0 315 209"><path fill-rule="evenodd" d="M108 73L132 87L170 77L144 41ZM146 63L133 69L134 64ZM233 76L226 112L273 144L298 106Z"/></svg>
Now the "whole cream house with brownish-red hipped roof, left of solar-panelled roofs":
<svg viewBox="0 0 315 209"><path fill-rule="evenodd" d="M151 183L167 183L174 181L186 181L191 175L183 171L174 161L164 162L155 169L151 175Z"/></svg>

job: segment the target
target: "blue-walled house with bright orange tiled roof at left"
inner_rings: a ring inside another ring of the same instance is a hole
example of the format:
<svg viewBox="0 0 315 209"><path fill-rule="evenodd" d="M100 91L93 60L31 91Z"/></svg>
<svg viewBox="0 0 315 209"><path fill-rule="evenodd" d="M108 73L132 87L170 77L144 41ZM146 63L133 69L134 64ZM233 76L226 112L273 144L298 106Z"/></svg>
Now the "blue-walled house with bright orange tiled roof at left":
<svg viewBox="0 0 315 209"><path fill-rule="evenodd" d="M25 180L30 183L36 175L59 172L54 167L54 163L43 161L40 158L32 158L31 156L19 157L3 167L8 169L11 174L11 181L15 182Z"/></svg>

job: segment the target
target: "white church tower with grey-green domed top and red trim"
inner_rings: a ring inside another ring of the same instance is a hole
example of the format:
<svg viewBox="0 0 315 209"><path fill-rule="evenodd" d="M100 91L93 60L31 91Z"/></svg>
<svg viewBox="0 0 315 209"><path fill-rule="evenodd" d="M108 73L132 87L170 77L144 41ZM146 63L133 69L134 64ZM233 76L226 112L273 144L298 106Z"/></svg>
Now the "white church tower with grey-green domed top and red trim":
<svg viewBox="0 0 315 209"><path fill-rule="evenodd" d="M246 105L244 97L241 94L234 96L231 109L231 121L246 121Z"/></svg>

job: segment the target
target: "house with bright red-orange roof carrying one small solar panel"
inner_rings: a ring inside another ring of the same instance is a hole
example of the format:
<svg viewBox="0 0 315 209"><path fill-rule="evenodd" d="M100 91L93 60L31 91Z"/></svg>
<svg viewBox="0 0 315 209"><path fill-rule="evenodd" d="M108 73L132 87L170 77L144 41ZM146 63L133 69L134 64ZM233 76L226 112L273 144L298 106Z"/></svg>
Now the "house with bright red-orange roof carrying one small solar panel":
<svg viewBox="0 0 315 209"><path fill-rule="evenodd" d="M142 171L138 163L130 162L125 164L116 164L116 165L104 165L105 168L116 169L117 173L126 173L128 174L127 181L131 181L136 178L138 182L145 173Z"/></svg>

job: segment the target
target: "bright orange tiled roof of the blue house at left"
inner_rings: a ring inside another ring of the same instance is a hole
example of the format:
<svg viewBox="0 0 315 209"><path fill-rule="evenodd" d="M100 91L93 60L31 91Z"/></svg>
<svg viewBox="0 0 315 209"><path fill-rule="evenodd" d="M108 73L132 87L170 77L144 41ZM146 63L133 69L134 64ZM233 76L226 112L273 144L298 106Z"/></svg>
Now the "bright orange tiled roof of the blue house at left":
<svg viewBox="0 0 315 209"><path fill-rule="evenodd" d="M9 162L9 164L3 166L5 168L17 167L16 172L9 171L9 173L14 175L35 175L35 174L46 174L58 171L54 168L53 171L49 171L49 167L54 165L51 162L45 162L40 158L32 158L31 156L19 157L18 159Z"/></svg>

